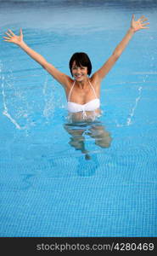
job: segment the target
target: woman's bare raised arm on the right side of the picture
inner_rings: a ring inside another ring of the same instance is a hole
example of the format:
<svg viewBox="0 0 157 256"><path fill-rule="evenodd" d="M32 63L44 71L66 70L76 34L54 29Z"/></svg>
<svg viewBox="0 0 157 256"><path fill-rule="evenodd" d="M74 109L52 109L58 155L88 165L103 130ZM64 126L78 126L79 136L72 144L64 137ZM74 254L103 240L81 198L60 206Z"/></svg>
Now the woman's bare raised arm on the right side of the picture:
<svg viewBox="0 0 157 256"><path fill-rule="evenodd" d="M119 59L124 49L126 49L126 45L129 43L129 41L132 39L135 32L137 32L140 29L149 28L147 25L148 23L143 23L144 21L148 20L144 16L141 16L138 20L135 20L135 16L132 15L132 22L131 27L126 32L126 36L121 40L121 43L117 45L115 48L113 54L109 57L109 59L104 63L103 67L98 69L96 73L93 75L97 76L98 79L104 79L105 75L109 73L109 70L114 66L115 61Z"/></svg>

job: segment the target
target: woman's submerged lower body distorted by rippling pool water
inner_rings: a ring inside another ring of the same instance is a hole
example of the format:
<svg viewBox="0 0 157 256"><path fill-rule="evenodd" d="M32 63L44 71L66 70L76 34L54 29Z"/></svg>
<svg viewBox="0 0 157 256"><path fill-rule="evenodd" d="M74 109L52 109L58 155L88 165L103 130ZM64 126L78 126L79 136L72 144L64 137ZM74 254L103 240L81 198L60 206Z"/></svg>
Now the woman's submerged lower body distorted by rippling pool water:
<svg viewBox="0 0 157 256"><path fill-rule="evenodd" d="M100 148L109 148L112 141L109 131L105 130L100 121L66 123L64 124L64 130L70 134L70 146L85 154L86 160L91 159L90 150L85 147L86 135L92 137L95 144Z"/></svg>

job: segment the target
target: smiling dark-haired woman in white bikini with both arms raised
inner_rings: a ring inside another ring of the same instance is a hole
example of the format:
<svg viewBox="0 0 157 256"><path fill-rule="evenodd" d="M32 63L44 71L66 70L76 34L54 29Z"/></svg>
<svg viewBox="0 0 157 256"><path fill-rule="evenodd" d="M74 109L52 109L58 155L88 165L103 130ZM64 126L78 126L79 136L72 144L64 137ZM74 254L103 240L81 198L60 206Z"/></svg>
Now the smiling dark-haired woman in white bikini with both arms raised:
<svg viewBox="0 0 157 256"><path fill-rule="evenodd" d="M148 23L144 21L148 20L144 16L141 16L138 20L135 20L135 16L132 15L132 22L129 30L126 32L126 36L121 40L121 43L115 48L112 55L104 63L104 65L98 69L91 77L92 64L87 54L76 53L70 59L70 73L73 77L71 79L68 75L61 73L52 64L48 63L42 55L39 55L25 44L23 40L22 29L20 29L20 36L16 36L14 32L8 30L6 32L7 37L3 37L4 41L8 43L14 43L20 46L32 59L37 61L44 69L50 73L59 84L62 84L67 97L68 110L70 112L70 119L72 122L93 121L100 114L100 84L102 79L109 73L109 70L114 66L115 61L121 56L126 45L131 40L135 32L141 29L148 28ZM70 129L69 125L65 125L64 128L72 136L70 144L76 149L80 149L82 153L87 153L84 148L84 137L82 137L84 129L75 130ZM95 138L98 146L102 148L109 147L109 133L104 131L102 125L93 125L88 132L88 135ZM106 140L106 138L108 139ZM81 143L80 143L81 142Z"/></svg>

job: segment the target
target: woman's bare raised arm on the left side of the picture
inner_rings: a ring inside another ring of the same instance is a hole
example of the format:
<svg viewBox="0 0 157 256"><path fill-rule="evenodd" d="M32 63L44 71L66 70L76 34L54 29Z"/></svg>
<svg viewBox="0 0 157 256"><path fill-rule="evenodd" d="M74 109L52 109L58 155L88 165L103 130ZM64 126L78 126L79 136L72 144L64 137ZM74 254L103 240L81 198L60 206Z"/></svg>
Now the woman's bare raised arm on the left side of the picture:
<svg viewBox="0 0 157 256"><path fill-rule="evenodd" d="M60 84L66 86L70 78L66 74L61 73L56 67L53 67L51 63L48 63L48 61L46 61L42 55L39 55L35 50L31 49L27 44L25 44L22 29L20 29L20 36L16 36L11 30L5 32L5 34L7 37L3 37L4 41L19 45L27 55L30 55L33 60L38 62L44 69L46 69L54 79L58 80Z"/></svg>

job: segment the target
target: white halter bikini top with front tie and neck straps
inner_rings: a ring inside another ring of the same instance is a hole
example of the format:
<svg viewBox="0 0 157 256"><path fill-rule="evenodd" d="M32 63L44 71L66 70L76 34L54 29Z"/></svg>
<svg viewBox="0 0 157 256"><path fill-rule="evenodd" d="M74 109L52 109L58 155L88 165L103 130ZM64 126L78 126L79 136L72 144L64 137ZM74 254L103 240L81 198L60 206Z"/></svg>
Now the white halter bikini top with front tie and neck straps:
<svg viewBox="0 0 157 256"><path fill-rule="evenodd" d="M84 118L87 116L86 111L94 111L100 107L100 100L98 99L96 92L93 89L93 85L89 81L89 84L91 85L91 88L93 89L93 94L96 98L90 102L85 103L85 104L78 104L76 102L70 102L71 91L73 90L75 84L76 84L76 81L74 81L74 83L72 84L71 89L70 89L70 94L68 96L68 106L67 106L68 111L70 113L82 112L83 118Z"/></svg>

